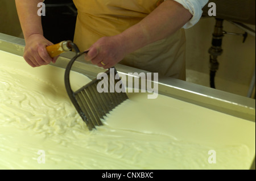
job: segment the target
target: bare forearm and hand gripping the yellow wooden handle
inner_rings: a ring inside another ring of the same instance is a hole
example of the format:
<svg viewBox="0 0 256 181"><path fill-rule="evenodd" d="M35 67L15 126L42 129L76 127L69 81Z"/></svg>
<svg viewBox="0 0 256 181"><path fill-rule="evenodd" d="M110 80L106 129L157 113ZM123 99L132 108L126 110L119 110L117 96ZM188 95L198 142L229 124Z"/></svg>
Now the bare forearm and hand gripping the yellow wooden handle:
<svg viewBox="0 0 256 181"><path fill-rule="evenodd" d="M15 0L26 47L24 60L32 66L47 65L55 62L57 57L51 58L46 47L52 43L43 36L41 16L38 15L38 3L43 0Z"/></svg>

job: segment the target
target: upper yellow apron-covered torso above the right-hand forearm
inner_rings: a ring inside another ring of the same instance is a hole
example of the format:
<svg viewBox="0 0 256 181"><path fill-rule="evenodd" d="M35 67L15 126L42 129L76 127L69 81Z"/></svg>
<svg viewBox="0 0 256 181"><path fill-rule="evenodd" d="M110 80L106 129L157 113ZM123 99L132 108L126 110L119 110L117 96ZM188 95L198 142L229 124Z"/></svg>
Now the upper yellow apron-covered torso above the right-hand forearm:
<svg viewBox="0 0 256 181"><path fill-rule="evenodd" d="M162 0L161 0L162 1ZM114 36L145 18L160 0L73 0L78 11L77 30L92 45L102 36ZM89 34L89 35L88 35Z"/></svg>

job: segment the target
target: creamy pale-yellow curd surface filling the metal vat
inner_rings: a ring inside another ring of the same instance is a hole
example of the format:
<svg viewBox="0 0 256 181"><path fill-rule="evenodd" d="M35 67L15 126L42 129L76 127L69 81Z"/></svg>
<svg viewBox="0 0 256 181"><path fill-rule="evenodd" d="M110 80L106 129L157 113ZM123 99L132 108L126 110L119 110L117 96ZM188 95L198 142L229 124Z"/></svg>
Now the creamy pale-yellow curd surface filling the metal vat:
<svg viewBox="0 0 256 181"><path fill-rule="evenodd" d="M31 68L2 51L0 61L0 169L250 169L251 121L129 93L90 132L65 91L64 69ZM74 90L89 81L71 74ZM210 150L216 163L208 162Z"/></svg>

